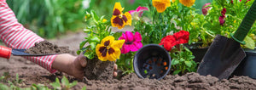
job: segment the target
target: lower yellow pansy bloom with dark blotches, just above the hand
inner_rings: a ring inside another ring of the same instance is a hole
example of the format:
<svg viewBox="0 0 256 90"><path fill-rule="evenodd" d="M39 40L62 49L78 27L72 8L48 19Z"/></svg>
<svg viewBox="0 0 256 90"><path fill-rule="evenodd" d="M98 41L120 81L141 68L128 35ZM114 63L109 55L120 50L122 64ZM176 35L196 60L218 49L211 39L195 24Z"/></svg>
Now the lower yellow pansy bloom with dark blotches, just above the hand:
<svg viewBox="0 0 256 90"><path fill-rule="evenodd" d="M100 44L96 45L96 55L102 61L115 61L119 59L125 40L114 40L114 37L108 36L102 39Z"/></svg>

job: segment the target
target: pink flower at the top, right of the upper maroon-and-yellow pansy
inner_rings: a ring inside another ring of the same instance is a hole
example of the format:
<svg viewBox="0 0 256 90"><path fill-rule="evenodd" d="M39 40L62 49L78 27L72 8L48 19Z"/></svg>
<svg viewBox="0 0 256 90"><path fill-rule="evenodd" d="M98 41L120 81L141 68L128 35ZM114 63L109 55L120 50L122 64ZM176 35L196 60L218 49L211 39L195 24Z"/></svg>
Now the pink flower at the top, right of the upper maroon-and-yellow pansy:
<svg viewBox="0 0 256 90"><path fill-rule="evenodd" d="M131 10L131 11L128 11L128 12L132 15L133 19L139 20L139 17L143 16L143 11L144 10L148 10L148 8L139 6L139 7L136 8L136 10Z"/></svg>

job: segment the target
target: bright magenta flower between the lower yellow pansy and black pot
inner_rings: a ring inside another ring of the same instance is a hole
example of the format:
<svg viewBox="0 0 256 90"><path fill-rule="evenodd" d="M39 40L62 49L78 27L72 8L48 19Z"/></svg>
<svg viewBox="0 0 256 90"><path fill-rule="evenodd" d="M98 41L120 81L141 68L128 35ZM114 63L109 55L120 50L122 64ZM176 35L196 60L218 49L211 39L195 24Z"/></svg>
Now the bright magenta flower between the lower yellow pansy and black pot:
<svg viewBox="0 0 256 90"><path fill-rule="evenodd" d="M133 33L131 31L125 31L122 37L119 37L119 40L125 39L125 43L121 48L121 53L129 53L137 51L139 48L143 47L142 36L139 32Z"/></svg>

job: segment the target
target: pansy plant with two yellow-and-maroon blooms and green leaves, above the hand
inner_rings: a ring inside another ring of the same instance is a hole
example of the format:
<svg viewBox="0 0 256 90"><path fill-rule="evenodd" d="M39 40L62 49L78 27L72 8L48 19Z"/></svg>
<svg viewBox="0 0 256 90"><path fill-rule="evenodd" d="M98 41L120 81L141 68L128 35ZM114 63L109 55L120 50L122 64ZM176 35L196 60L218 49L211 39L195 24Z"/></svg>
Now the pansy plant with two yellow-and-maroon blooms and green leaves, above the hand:
<svg viewBox="0 0 256 90"><path fill-rule="evenodd" d="M124 8L121 7L120 3L115 3L113 16L110 20L105 19L104 16L99 17L93 10L90 13L86 12L84 19L90 21L90 25L84 29L87 37L84 37L85 40L80 43L80 49L77 53L84 53L88 59L98 58L102 61L119 59L120 48L122 48L125 40L115 41L114 37L119 36L119 34L113 32L110 27L121 29L125 25L131 25L131 14L128 12L123 14L123 10Z"/></svg>

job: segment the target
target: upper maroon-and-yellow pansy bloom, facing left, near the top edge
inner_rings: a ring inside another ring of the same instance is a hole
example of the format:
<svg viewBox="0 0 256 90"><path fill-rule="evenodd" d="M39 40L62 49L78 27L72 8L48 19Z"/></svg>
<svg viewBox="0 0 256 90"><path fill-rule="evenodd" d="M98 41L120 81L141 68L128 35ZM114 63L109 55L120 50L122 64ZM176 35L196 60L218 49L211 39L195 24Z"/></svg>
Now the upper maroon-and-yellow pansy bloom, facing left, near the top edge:
<svg viewBox="0 0 256 90"><path fill-rule="evenodd" d="M115 3L113 7L113 15L111 18L111 25L113 27L118 27L119 29L122 29L125 27L125 25L131 25L131 14L128 12L125 12L125 14L122 13L124 8L121 7L120 3Z"/></svg>

